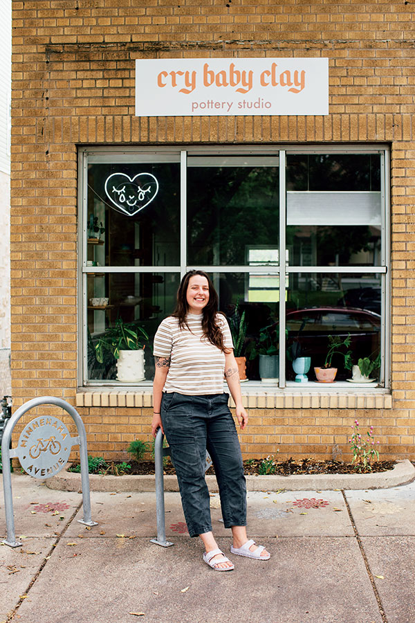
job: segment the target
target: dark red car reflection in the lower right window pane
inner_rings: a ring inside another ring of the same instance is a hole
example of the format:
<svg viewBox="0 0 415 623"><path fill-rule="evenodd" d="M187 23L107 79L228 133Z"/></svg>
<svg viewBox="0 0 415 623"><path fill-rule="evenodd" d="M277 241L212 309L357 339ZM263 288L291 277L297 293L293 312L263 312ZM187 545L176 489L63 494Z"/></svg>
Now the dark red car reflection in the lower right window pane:
<svg viewBox="0 0 415 623"><path fill-rule="evenodd" d="M378 354L380 349L380 316L374 311L353 309L351 307L312 307L288 311L286 314L288 331L287 347L296 338L302 348L302 356L311 357L311 370L323 365L326 359L329 335L351 336L353 361L360 357ZM344 359L333 356L333 367L338 367L338 380L350 377L344 370ZM287 379L294 379L291 366L287 366ZM312 378L312 377L310 377Z"/></svg>

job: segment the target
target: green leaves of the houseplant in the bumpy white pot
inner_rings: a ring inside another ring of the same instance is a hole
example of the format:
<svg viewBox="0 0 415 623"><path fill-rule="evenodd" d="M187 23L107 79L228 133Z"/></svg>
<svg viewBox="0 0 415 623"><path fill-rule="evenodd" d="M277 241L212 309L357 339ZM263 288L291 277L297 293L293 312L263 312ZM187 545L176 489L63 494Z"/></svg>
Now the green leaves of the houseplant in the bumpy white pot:
<svg viewBox="0 0 415 623"><path fill-rule="evenodd" d="M95 356L103 363L104 350L109 350L119 359L120 350L140 350L148 340L149 336L137 323L124 324L122 318L117 318L115 326L109 327L95 344Z"/></svg>

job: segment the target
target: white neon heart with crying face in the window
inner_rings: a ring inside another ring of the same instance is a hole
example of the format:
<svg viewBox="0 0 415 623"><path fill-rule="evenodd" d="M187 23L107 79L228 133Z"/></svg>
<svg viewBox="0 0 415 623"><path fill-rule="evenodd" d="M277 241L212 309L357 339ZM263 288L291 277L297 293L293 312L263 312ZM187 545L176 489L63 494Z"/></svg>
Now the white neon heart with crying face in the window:
<svg viewBox="0 0 415 623"><path fill-rule="evenodd" d="M125 173L112 173L105 181L107 197L128 216L151 204L158 193L158 181L151 173L138 173L132 179Z"/></svg>

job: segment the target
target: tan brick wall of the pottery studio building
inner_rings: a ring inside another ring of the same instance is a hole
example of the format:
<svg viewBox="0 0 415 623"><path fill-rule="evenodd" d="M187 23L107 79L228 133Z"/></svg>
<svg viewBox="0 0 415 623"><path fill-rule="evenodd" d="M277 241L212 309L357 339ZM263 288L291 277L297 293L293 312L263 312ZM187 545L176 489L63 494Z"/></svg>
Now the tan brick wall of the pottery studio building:
<svg viewBox="0 0 415 623"><path fill-rule="evenodd" d="M12 374L15 405L77 390L77 145L390 143L392 408L250 410L245 455L347 451L355 417L383 456L415 441L413 3L293 0L14 0ZM134 117L134 61L328 57L330 114ZM89 451L148 435L149 410L82 408Z"/></svg>

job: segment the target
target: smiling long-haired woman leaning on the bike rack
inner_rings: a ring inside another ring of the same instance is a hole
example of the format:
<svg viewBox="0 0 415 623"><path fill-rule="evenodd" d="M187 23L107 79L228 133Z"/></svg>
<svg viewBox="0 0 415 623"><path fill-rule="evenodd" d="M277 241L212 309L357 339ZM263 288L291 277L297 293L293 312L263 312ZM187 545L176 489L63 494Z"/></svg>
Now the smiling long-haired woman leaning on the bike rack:
<svg viewBox="0 0 415 623"><path fill-rule="evenodd" d="M203 560L217 571L230 571L234 566L212 534L206 449L219 485L223 523L232 530L231 552L258 560L268 560L270 554L246 536L246 483L229 395L223 392L223 374L241 429L246 427L248 415L242 406L230 329L217 310L218 296L208 275L203 271L186 273L176 309L160 323L154 338L151 428L154 437L161 428L169 442L187 529L190 536L201 537Z"/></svg>

